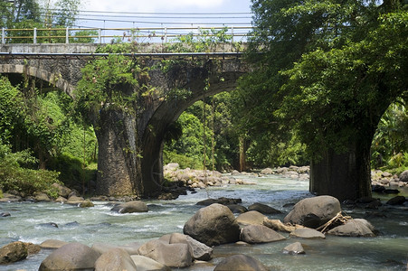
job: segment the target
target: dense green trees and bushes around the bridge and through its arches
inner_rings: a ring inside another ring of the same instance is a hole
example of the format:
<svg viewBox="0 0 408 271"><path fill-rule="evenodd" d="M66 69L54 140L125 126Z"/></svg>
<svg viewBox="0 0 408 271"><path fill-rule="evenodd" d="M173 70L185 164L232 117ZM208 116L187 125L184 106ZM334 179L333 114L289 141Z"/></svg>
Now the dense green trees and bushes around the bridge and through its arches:
<svg viewBox="0 0 408 271"><path fill-rule="evenodd" d="M360 116L372 114L384 99L391 106L374 125L371 166L396 173L407 169L406 4L343 2L252 1L258 30L248 55L258 70L238 89L185 110L175 124L178 135L166 141L165 163L217 170L308 164L319 148L341 151L355 135L352 127ZM70 26L80 5L79 0L60 0L57 7L70 8L55 9L44 21L40 11L47 6L34 0L17 3L15 9L0 2L0 22L6 27ZM212 42L231 42L223 32L213 34L216 39L187 36L176 46L183 42L205 51ZM50 36L43 42L59 41ZM262 54L257 53L260 44ZM129 45L113 46L123 51ZM132 73L122 71L115 72L131 82ZM57 180L81 189L92 180L98 145L84 106L36 79L3 76L0 189L32 193ZM338 134L344 140L334 142Z"/></svg>

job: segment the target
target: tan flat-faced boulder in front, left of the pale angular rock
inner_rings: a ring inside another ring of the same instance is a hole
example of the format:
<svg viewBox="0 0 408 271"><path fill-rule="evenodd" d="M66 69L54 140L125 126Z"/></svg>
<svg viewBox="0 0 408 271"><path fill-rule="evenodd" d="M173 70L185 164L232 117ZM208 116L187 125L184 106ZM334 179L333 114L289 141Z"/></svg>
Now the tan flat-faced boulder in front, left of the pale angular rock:
<svg viewBox="0 0 408 271"><path fill-rule="evenodd" d="M187 267L193 264L190 248L187 244L168 244L166 241L155 239L138 248L138 254L150 257L165 266Z"/></svg>

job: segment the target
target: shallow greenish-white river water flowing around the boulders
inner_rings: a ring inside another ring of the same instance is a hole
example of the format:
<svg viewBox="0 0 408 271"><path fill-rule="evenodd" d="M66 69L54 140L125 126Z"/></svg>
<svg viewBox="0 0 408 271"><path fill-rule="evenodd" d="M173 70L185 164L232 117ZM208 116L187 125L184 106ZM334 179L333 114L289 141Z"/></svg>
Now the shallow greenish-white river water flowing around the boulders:
<svg viewBox="0 0 408 271"><path fill-rule="evenodd" d="M60 203L0 203L0 212L8 211L11 217L0 218L0 246L12 241L40 244L54 238L67 242L78 241L91 246L95 242L109 244L144 243L172 232L183 232L185 222L199 210L197 201L211 198L241 198L248 207L254 202L268 204L284 214L268 216L283 219L295 203L312 196L308 182L273 177L240 176L255 185L229 185L212 187L180 196L175 201L147 201L146 213L118 214L110 211L107 202L94 202L95 207L81 209ZM346 210L355 218L372 222L380 235L375 238L339 238L327 236L324 240L289 238L268 244L239 246L235 244L215 247L209 265L199 264L185 270L213 270L223 257L246 254L256 257L271 270L405 270L408 260L407 205L382 207L382 210ZM56 223L58 228L52 227ZM305 255L282 254L282 248L300 241ZM38 270L43 258L51 250L0 270Z"/></svg>

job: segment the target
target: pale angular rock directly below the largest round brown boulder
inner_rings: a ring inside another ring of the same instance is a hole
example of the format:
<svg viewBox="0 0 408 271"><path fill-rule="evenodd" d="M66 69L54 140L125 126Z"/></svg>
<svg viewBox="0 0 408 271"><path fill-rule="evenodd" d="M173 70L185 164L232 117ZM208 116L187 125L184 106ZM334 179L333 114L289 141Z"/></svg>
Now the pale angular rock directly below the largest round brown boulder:
<svg viewBox="0 0 408 271"><path fill-rule="evenodd" d="M163 239L163 238L160 238ZM188 235L181 233L173 233L168 235L169 244L187 244L190 248L191 257L193 259L208 261L213 255L213 248L208 247L202 242L195 240L194 238L189 237Z"/></svg>

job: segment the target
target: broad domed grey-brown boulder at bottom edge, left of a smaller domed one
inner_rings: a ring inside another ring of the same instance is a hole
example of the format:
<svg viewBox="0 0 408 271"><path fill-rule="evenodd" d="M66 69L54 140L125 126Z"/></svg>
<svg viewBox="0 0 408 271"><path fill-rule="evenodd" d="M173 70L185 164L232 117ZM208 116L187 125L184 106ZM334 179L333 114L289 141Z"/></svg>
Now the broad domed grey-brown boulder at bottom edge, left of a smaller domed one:
<svg viewBox="0 0 408 271"><path fill-rule="evenodd" d="M40 265L39 271L45 270L93 270L100 254L81 243L69 243L58 248L46 257Z"/></svg>

